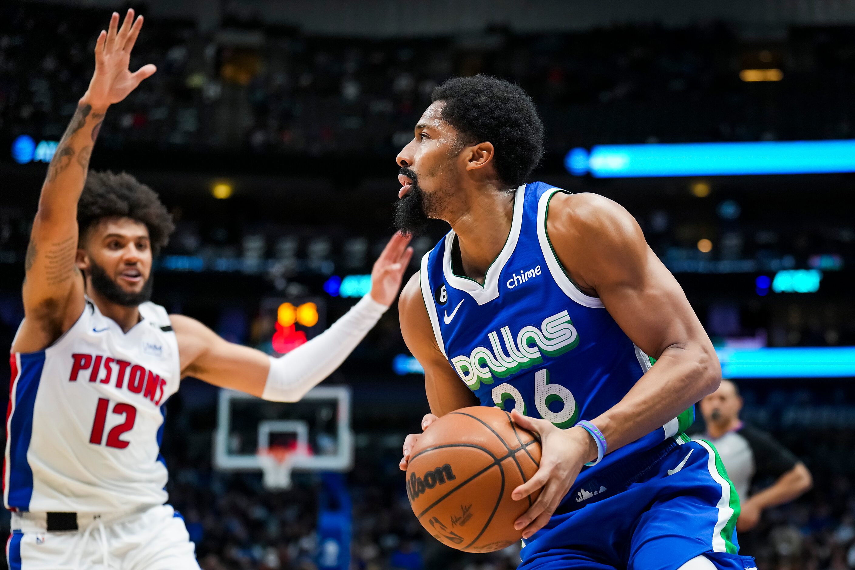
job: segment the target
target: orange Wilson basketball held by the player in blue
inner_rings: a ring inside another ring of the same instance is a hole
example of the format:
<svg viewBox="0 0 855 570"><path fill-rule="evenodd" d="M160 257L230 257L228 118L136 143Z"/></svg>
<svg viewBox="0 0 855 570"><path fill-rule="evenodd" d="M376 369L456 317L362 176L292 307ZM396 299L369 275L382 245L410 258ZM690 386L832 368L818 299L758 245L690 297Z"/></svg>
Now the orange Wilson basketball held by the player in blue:
<svg viewBox="0 0 855 570"><path fill-rule="evenodd" d="M442 544L466 552L504 549L522 538L514 528L540 490L521 501L510 493L540 465L540 442L499 408L446 414L416 442L407 496L422 526Z"/></svg>

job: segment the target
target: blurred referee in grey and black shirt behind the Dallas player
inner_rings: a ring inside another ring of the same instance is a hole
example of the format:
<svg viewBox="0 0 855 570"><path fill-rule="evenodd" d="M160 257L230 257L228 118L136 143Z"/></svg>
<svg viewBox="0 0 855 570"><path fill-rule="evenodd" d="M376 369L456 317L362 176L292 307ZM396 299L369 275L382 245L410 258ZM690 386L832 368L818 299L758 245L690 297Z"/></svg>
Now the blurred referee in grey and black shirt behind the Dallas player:
<svg viewBox="0 0 855 570"><path fill-rule="evenodd" d="M722 380L718 390L700 401L706 432L699 438L711 441L722 457L742 503L736 530L745 532L757 526L764 509L792 501L810 490L813 481L790 450L768 433L743 424L740 409L739 388ZM749 497L755 481L763 479L775 479L775 483Z"/></svg>

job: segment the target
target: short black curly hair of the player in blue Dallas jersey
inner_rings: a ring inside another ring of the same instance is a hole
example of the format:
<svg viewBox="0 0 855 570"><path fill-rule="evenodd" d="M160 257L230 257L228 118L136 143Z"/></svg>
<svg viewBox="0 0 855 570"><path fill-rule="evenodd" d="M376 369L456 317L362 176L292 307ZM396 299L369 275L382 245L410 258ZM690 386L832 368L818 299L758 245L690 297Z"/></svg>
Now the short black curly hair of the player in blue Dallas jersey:
<svg viewBox="0 0 855 570"><path fill-rule="evenodd" d="M455 77L433 90L442 118L463 144L489 141L496 173L510 188L522 185L543 157L543 123L531 97L519 85L490 77Z"/></svg>

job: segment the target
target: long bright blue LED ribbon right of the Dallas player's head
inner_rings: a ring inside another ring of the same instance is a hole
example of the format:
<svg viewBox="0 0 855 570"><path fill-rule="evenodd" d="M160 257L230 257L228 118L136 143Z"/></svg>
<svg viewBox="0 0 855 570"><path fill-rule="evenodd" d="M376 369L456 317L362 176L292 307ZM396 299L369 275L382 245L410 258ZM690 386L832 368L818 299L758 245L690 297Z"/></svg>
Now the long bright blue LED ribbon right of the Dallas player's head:
<svg viewBox="0 0 855 570"><path fill-rule="evenodd" d="M855 172L855 140L599 144L570 150L569 173L595 178Z"/></svg>

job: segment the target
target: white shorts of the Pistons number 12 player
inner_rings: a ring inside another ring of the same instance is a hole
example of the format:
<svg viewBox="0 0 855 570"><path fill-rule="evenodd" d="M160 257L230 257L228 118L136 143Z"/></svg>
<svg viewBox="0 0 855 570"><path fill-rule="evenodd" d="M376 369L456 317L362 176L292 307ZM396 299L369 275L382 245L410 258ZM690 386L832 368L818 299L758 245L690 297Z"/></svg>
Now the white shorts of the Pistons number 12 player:
<svg viewBox="0 0 855 570"><path fill-rule="evenodd" d="M44 514L13 513L9 570L199 570L184 520L169 505L77 520L79 530L48 532Z"/></svg>

